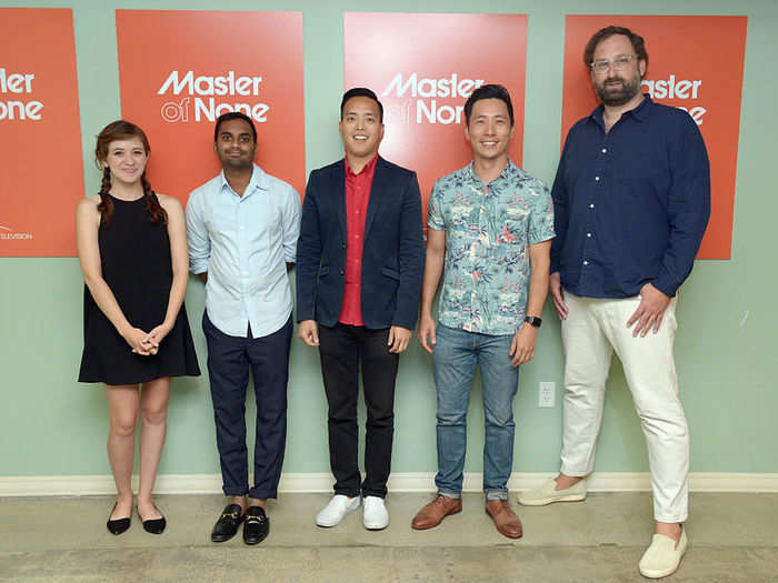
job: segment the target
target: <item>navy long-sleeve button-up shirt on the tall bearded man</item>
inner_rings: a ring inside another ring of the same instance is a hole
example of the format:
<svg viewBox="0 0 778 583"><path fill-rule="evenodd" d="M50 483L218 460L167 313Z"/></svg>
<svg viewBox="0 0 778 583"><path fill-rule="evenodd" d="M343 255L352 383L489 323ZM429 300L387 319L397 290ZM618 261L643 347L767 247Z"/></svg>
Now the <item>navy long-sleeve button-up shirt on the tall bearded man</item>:
<svg viewBox="0 0 778 583"><path fill-rule="evenodd" d="M675 295L710 215L710 164L684 110L645 96L605 131L602 105L567 135L553 181L551 273L584 298Z"/></svg>

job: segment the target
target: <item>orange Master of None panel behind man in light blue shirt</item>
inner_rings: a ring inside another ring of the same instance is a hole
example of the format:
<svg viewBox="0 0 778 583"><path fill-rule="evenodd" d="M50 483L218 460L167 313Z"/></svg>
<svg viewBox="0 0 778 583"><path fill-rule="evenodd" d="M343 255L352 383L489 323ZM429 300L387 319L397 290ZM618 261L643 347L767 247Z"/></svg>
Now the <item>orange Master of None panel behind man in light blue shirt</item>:
<svg viewBox="0 0 778 583"><path fill-rule="evenodd" d="M117 10L122 117L151 142L152 188L178 197L221 170L216 118L257 127L257 163L305 188L302 14Z"/></svg>

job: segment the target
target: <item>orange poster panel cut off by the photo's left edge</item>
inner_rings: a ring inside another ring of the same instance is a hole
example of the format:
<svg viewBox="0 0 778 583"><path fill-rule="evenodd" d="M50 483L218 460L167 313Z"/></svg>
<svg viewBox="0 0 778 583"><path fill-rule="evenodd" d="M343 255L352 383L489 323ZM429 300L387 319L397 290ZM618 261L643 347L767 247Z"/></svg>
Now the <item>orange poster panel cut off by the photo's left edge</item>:
<svg viewBox="0 0 778 583"><path fill-rule="evenodd" d="M0 257L74 255L83 160L70 9L0 8Z"/></svg>

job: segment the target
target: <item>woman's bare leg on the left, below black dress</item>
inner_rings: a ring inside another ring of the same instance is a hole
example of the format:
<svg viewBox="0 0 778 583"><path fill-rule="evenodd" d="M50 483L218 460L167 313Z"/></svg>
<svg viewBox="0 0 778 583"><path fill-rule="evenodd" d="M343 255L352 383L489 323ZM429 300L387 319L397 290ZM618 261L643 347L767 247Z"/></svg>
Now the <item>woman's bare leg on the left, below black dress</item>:
<svg viewBox="0 0 778 583"><path fill-rule="evenodd" d="M138 386L106 385L110 429L108 460L117 485L117 505L110 520L132 515L132 462L136 451L136 426L140 410Z"/></svg>

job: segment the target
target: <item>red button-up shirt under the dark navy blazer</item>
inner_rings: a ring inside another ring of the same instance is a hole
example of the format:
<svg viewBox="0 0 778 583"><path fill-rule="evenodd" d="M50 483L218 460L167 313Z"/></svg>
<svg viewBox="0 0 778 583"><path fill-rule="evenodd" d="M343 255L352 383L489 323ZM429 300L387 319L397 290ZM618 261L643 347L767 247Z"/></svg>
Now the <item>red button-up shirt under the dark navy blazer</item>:
<svg viewBox="0 0 778 583"><path fill-rule="evenodd" d="M343 289L343 306L338 322L350 325L365 325L362 321L362 245L365 243L365 218L370 201L372 177L376 173L373 157L365 168L355 174L346 165L346 287Z"/></svg>

